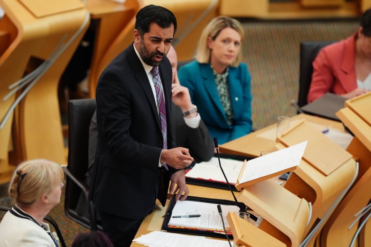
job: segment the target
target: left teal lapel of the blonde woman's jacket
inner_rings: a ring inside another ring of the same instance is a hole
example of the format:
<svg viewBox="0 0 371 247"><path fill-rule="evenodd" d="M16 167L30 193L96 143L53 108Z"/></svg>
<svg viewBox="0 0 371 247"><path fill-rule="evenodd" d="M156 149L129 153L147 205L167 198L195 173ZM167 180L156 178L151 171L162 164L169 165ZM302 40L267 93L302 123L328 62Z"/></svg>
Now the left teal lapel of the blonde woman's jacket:
<svg viewBox="0 0 371 247"><path fill-rule="evenodd" d="M208 63L201 63L200 70L206 92L210 96L211 101L217 106L218 111L222 114L222 116L224 116L225 121L227 121L210 65Z"/></svg>

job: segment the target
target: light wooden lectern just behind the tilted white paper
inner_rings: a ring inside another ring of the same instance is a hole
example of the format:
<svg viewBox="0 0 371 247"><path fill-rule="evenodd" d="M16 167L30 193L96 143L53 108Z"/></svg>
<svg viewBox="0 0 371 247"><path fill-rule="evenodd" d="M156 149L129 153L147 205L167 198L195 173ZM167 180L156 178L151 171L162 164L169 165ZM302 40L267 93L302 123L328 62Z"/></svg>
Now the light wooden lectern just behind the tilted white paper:
<svg viewBox="0 0 371 247"><path fill-rule="evenodd" d="M283 146L308 141L302 162L285 188L312 203L312 218L305 230L306 246L314 241L331 213L355 180L356 164L350 153L303 120L277 137Z"/></svg>

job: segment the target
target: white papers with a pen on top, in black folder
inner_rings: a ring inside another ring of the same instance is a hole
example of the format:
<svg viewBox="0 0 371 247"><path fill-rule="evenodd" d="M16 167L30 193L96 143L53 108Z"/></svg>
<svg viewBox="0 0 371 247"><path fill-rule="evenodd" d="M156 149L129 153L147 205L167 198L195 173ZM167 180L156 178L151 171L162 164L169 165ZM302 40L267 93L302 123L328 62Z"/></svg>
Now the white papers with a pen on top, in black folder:
<svg viewBox="0 0 371 247"><path fill-rule="evenodd" d="M223 211L223 220L228 226L227 213L238 212L240 208L233 205L221 205ZM168 223L169 227L198 229L206 231L219 231L224 232L222 219L219 215L217 204L204 203L197 201L178 201L171 216L174 215L191 215L200 214L201 217L195 218L170 218Z"/></svg>

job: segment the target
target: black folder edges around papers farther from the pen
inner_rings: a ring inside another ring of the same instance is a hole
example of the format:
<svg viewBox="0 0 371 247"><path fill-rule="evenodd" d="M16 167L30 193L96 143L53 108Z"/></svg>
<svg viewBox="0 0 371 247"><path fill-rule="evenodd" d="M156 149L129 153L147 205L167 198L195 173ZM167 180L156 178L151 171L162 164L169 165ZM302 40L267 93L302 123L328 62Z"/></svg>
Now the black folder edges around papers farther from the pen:
<svg viewBox="0 0 371 247"><path fill-rule="evenodd" d="M219 153L219 156L220 156L220 158L232 159L232 160L242 161L242 162L244 160L248 161L248 160L254 159L254 157L233 155L233 154L224 154L224 153ZM218 157L217 154L214 154L214 157ZM190 165L188 169L192 169L194 165L196 165L196 164ZM229 190L229 187L228 187L226 182L219 182L219 181L211 181L211 180L187 178L186 177L186 184ZM233 191L236 191L236 192L238 191L234 187L234 184L230 183L230 185L231 185Z"/></svg>

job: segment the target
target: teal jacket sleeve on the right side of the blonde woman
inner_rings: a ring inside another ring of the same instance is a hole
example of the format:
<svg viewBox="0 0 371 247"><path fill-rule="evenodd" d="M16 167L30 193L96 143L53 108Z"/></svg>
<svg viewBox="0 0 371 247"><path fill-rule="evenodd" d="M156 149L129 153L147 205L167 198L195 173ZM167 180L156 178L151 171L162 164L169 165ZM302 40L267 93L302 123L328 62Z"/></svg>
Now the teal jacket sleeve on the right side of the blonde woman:
<svg viewBox="0 0 371 247"><path fill-rule="evenodd" d="M247 65L242 63L240 66L241 83L243 91L243 113L241 118L235 119L233 131L230 136L230 140L237 139L251 132L252 121L251 121L251 76L248 72Z"/></svg>

